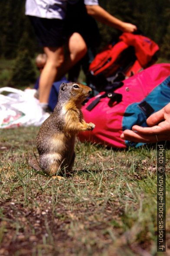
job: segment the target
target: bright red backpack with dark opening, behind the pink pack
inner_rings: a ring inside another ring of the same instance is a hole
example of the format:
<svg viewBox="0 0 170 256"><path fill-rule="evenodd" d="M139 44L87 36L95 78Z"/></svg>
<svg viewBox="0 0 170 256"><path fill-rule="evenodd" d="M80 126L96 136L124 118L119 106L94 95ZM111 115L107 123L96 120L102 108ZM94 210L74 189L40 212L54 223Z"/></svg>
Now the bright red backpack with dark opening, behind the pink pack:
<svg viewBox="0 0 170 256"><path fill-rule="evenodd" d="M118 43L109 44L101 53L98 53L89 66L92 83L98 87L102 80L101 76L113 77L115 80L123 80L132 76L142 69L151 66L157 60L155 53L159 50L158 45L147 37L133 33L123 33ZM120 76L118 79L117 77ZM95 79L99 76L98 80ZM103 80L102 80L103 83Z"/></svg>

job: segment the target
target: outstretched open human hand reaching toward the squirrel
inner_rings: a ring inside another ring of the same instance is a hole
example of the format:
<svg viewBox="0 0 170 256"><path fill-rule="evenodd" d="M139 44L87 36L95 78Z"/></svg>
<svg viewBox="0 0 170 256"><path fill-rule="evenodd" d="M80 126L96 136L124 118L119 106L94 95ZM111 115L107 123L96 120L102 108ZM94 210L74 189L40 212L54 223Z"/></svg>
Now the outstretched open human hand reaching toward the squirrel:
<svg viewBox="0 0 170 256"><path fill-rule="evenodd" d="M124 130L121 139L144 143L170 140L170 103L149 116L147 125L150 127L134 125L133 131Z"/></svg>

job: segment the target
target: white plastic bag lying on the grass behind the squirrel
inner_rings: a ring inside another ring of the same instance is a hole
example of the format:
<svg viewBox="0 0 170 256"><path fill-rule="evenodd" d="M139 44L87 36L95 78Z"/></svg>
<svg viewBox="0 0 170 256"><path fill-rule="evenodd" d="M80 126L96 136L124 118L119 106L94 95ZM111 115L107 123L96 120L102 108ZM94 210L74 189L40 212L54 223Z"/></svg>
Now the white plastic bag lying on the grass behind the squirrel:
<svg viewBox="0 0 170 256"><path fill-rule="evenodd" d="M8 92L7 96L1 94ZM39 126L49 116L34 97L35 89L0 88L0 128Z"/></svg>

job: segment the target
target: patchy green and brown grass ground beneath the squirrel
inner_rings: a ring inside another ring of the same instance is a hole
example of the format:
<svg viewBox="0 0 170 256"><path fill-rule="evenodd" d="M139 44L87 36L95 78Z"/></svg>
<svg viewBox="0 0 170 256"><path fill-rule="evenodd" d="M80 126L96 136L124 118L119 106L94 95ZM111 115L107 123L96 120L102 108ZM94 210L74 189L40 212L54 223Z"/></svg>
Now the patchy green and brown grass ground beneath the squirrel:
<svg viewBox="0 0 170 256"><path fill-rule="evenodd" d="M0 130L0 255L166 255L156 252L154 148L77 142L75 173L53 179L28 165L38 130ZM169 190L167 175L167 249Z"/></svg>

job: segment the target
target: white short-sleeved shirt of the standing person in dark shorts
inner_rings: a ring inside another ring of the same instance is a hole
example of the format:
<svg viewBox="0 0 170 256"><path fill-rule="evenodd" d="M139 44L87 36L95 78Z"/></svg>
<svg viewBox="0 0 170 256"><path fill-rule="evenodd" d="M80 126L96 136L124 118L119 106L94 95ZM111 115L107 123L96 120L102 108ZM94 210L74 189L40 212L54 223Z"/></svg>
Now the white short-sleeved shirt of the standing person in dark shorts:
<svg viewBox="0 0 170 256"><path fill-rule="evenodd" d="M78 0L26 0L26 15L47 19L65 18L67 3L75 4ZM98 0L84 0L85 5L98 5Z"/></svg>

